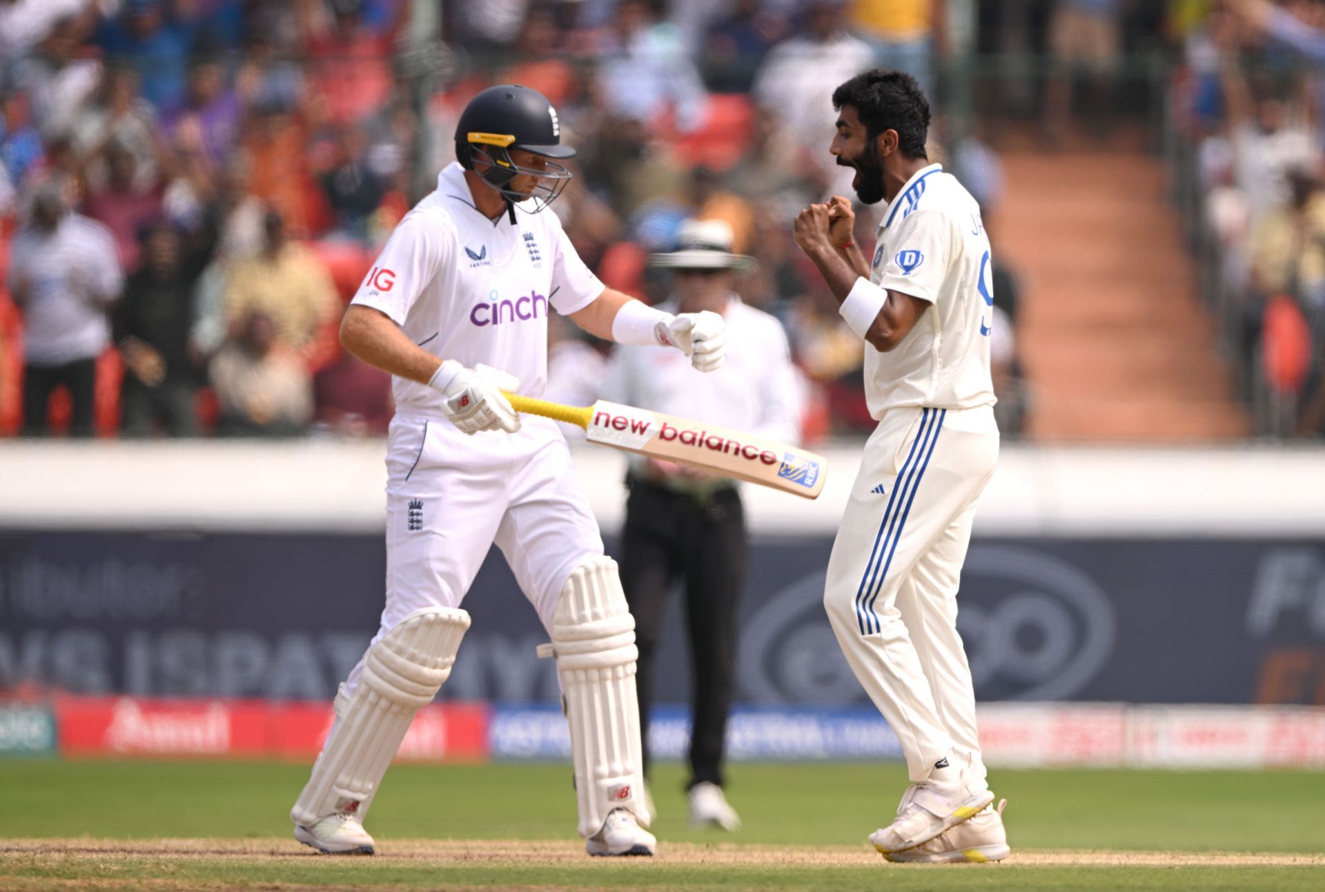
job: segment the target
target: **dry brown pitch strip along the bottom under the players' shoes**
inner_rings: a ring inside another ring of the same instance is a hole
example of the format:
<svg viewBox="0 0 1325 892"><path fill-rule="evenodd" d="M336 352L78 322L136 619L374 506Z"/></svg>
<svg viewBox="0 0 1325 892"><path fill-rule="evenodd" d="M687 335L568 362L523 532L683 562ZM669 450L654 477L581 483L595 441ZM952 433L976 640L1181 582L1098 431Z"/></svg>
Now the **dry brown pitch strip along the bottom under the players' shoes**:
<svg viewBox="0 0 1325 892"><path fill-rule="evenodd" d="M619 860L560 840L395 840L367 859L284 839L0 840L5 892L398 888L1318 889L1325 854L1026 850L1002 864L918 865L859 846L668 843Z"/></svg>

